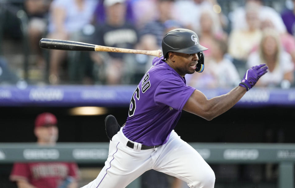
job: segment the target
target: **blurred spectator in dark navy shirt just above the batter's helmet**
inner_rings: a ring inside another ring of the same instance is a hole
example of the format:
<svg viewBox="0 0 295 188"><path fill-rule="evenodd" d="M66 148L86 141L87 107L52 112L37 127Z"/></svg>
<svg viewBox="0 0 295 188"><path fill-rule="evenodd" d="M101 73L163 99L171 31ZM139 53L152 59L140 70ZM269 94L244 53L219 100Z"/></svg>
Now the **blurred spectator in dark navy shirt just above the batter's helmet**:
<svg viewBox="0 0 295 188"><path fill-rule="evenodd" d="M140 36L145 34L152 34L157 38L157 45L162 45L163 35L165 34L165 21L171 20L172 8L174 0L158 0L156 12L158 17L151 22L148 22L143 28L140 29Z"/></svg>

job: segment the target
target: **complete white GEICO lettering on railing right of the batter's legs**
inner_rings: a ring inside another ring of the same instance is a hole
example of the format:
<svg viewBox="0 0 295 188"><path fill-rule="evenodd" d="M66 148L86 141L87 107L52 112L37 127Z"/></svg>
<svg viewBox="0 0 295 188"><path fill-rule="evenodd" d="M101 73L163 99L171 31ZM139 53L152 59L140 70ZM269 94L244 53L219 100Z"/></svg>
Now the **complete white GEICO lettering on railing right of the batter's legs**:
<svg viewBox="0 0 295 188"><path fill-rule="evenodd" d="M255 160L258 156L257 149L226 149L223 152L224 159Z"/></svg>

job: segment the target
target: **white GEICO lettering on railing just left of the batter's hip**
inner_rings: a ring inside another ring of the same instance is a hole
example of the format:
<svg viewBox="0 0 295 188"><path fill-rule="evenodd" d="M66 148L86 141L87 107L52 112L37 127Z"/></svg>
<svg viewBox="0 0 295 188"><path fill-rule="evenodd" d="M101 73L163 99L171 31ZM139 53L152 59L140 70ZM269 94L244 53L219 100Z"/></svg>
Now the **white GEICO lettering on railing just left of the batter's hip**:
<svg viewBox="0 0 295 188"><path fill-rule="evenodd" d="M107 149L74 149L74 159L106 159L108 158Z"/></svg>

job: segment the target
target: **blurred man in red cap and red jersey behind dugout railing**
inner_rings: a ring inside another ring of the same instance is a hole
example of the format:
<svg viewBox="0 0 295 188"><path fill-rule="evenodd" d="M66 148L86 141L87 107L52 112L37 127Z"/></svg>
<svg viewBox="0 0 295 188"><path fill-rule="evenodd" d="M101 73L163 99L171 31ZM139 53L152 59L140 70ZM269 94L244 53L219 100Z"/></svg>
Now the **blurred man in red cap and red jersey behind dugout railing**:
<svg viewBox="0 0 295 188"><path fill-rule="evenodd" d="M35 120L34 133L40 146L53 146L58 138L57 118L41 113ZM10 180L18 188L77 188L79 170L76 163L29 162L14 163Z"/></svg>

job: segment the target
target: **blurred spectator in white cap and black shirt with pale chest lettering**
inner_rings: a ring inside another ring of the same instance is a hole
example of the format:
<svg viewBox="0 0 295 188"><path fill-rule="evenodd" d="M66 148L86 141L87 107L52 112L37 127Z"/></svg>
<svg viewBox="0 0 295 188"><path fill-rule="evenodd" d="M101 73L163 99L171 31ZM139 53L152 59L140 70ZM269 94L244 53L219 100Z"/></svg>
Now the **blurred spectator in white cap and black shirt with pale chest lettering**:
<svg viewBox="0 0 295 188"><path fill-rule="evenodd" d="M137 30L125 20L125 0L104 0L106 22L96 25L95 44L116 48L134 49L137 41ZM124 53L94 52L91 53L96 66L104 70L106 84L124 83Z"/></svg>

